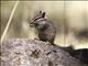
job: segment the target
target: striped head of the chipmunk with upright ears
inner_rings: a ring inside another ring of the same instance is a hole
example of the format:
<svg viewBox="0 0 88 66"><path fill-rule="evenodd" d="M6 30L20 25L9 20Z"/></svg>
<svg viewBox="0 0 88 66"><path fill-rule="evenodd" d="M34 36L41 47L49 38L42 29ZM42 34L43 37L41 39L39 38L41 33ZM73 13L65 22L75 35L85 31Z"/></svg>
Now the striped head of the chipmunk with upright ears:
<svg viewBox="0 0 88 66"><path fill-rule="evenodd" d="M45 12L40 11L40 13L35 15L32 22L30 23L30 26L37 26L38 22L44 18L45 18Z"/></svg>

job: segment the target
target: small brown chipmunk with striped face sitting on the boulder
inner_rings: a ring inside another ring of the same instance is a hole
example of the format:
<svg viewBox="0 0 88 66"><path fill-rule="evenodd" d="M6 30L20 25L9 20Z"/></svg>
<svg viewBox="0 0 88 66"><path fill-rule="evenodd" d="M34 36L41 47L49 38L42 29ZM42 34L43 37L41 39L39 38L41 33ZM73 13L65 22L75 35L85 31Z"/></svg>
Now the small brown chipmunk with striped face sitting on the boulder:
<svg viewBox="0 0 88 66"><path fill-rule="evenodd" d="M38 32L38 38L44 42L50 42L54 44L56 29L50 20L45 19L45 12L40 11L40 13L30 23Z"/></svg>

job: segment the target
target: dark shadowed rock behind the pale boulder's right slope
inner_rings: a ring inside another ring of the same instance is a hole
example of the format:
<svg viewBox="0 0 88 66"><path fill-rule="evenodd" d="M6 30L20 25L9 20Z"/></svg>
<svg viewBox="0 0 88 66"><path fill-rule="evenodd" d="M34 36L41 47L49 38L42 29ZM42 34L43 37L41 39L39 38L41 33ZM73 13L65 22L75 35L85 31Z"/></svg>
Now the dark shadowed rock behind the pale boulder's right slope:
<svg viewBox="0 0 88 66"><path fill-rule="evenodd" d="M79 59L80 62L85 63L88 65L88 48L79 48L75 50L72 45L67 47L62 47L64 51L70 54L70 56Z"/></svg>

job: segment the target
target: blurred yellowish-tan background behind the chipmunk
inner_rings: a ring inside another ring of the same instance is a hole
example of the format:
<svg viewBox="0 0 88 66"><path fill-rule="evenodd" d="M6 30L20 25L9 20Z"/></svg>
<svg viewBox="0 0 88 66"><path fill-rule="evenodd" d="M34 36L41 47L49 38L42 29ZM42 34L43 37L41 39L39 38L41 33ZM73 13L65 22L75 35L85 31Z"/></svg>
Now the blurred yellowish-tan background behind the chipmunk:
<svg viewBox="0 0 88 66"><path fill-rule="evenodd" d="M15 1L1 1L1 35L14 3ZM45 11L47 19L56 25L56 44L88 48L88 1L20 1L4 41L34 38L35 31L29 22L40 10Z"/></svg>

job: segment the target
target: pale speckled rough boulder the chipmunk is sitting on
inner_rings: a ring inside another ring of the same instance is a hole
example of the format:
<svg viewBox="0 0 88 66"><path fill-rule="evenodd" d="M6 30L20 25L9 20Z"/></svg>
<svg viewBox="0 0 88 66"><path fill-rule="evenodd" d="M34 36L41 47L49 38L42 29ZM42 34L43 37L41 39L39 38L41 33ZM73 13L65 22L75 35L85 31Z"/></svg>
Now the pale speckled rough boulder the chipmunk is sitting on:
<svg viewBox="0 0 88 66"><path fill-rule="evenodd" d="M2 43L0 58L1 66L87 66L58 46L29 38Z"/></svg>

